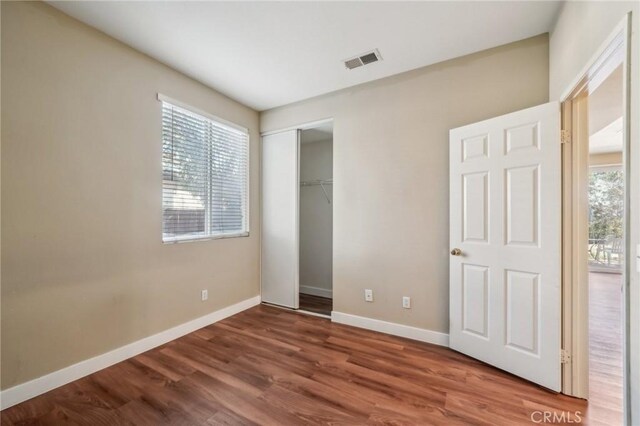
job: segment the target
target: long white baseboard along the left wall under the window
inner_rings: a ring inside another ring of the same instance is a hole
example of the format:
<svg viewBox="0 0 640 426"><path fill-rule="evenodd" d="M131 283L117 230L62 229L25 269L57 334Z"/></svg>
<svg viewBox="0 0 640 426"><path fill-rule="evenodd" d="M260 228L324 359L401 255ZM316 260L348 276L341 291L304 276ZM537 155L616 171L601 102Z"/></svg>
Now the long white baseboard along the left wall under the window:
<svg viewBox="0 0 640 426"><path fill-rule="evenodd" d="M214 322L218 322L224 318L235 315L246 309L260 304L260 296L243 300L235 305L227 306L218 311L212 312L192 321L185 322L176 327L161 331L153 336L145 337L110 352L98 355L96 357L80 361L77 364L70 365L61 370L49 373L46 376L38 377L31 381L19 384L12 388L0 392L0 409L4 410L23 401L42 395L52 389L78 380L84 376L95 373L96 371L107 368L113 364L124 361L128 358L146 352L150 349L164 345L167 342L175 340L179 337L196 331L202 327L206 327Z"/></svg>

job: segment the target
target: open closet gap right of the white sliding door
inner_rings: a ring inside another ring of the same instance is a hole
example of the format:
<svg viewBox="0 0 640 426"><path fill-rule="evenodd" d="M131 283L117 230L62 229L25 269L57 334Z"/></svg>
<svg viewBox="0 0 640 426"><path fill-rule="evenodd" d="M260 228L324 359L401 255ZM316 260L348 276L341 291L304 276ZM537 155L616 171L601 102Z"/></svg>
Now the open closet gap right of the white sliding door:
<svg viewBox="0 0 640 426"><path fill-rule="evenodd" d="M303 129L299 160L299 309L333 309L333 122Z"/></svg>

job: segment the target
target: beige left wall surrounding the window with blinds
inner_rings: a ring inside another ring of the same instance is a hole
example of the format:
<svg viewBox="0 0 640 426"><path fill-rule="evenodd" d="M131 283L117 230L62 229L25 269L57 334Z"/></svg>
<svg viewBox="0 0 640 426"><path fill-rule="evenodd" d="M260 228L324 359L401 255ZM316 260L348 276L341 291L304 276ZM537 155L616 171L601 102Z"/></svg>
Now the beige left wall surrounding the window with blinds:
<svg viewBox="0 0 640 426"><path fill-rule="evenodd" d="M251 130L250 237L161 243L157 92ZM259 294L258 119L44 3L2 2L3 389Z"/></svg>

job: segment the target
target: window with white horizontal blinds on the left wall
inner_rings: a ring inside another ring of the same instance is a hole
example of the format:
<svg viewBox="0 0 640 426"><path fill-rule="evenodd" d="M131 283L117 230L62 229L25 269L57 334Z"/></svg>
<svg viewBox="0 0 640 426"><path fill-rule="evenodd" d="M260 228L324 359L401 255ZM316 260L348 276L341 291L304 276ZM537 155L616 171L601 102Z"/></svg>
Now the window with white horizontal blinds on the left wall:
<svg viewBox="0 0 640 426"><path fill-rule="evenodd" d="M249 235L249 134L162 101L162 241Z"/></svg>

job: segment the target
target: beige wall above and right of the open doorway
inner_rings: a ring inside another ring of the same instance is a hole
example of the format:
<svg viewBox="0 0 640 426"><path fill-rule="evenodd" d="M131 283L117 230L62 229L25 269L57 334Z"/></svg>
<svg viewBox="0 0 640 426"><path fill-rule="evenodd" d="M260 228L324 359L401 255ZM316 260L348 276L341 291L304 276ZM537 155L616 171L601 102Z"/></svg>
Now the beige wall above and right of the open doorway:
<svg viewBox="0 0 640 426"><path fill-rule="evenodd" d="M638 253L640 244L640 2L600 1L565 2L555 28L551 33L549 47L549 89L552 100L569 90L580 73L585 71L589 60L606 41L628 12L631 22L630 63L630 250L631 259ZM633 261L635 262L635 260ZM632 418L629 424L640 424L640 276L631 267L629 274L629 357L631 386L628 400L632 401Z"/></svg>

